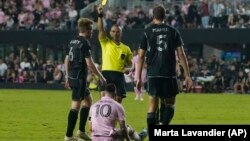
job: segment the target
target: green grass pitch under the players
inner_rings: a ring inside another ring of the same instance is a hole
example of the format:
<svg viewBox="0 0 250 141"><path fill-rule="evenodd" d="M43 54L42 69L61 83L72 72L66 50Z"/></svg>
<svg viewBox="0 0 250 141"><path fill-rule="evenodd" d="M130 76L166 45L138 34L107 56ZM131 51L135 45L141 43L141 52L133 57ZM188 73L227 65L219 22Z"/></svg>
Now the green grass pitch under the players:
<svg viewBox="0 0 250 141"><path fill-rule="evenodd" d="M98 92L92 92L94 101ZM127 123L146 127L147 96L123 101ZM179 94L171 124L250 124L250 95ZM71 92L0 89L0 141L62 141ZM78 128L78 125L76 126ZM88 129L88 127L87 127Z"/></svg>

